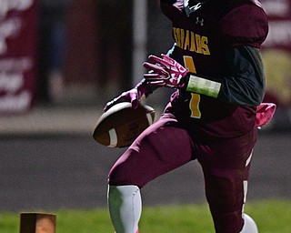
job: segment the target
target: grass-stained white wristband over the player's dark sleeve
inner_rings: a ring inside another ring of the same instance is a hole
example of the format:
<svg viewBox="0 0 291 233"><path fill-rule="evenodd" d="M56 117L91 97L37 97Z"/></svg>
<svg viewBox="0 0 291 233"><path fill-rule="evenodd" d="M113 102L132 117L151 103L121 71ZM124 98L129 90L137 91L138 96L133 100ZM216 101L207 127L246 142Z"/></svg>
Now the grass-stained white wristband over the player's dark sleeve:
<svg viewBox="0 0 291 233"><path fill-rule="evenodd" d="M216 98L220 88L221 83L203 77L190 75L186 91Z"/></svg>

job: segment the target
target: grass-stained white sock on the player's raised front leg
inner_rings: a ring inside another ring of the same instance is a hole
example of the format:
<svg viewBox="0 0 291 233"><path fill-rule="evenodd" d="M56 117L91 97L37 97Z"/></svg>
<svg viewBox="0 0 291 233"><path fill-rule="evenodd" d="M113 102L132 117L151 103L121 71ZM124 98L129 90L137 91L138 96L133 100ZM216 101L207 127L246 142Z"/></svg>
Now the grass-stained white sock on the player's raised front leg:
<svg viewBox="0 0 291 233"><path fill-rule="evenodd" d="M137 186L108 186L108 208L116 233L135 233L142 212Z"/></svg>

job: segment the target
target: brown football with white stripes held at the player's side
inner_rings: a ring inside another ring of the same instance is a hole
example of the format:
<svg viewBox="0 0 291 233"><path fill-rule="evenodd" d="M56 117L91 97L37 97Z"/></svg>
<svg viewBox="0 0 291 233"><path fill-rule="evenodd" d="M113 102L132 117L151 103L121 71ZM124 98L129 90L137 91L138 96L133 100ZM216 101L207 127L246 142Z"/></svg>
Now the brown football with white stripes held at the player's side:
<svg viewBox="0 0 291 233"><path fill-rule="evenodd" d="M146 127L154 123L155 110L151 106L122 102L109 108L96 122L93 137L107 147L128 147Z"/></svg>

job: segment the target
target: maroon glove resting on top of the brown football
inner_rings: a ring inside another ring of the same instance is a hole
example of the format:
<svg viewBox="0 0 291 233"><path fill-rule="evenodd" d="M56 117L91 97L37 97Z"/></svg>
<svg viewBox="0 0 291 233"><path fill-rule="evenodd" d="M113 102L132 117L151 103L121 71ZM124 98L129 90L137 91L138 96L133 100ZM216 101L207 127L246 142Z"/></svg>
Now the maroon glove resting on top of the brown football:
<svg viewBox="0 0 291 233"><path fill-rule="evenodd" d="M120 96L115 97L113 100L109 101L105 107L104 111L107 111L111 106L115 106L121 102L130 102L133 108L136 108L141 101L142 97L149 95L149 90L146 88L145 83L138 83L134 88L129 91L125 91Z"/></svg>

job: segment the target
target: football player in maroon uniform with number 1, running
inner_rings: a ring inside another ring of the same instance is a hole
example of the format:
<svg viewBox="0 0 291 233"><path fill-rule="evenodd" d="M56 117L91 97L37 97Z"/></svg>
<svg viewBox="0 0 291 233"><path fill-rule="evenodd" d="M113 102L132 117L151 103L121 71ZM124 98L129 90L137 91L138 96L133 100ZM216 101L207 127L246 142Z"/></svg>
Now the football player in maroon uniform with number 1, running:
<svg viewBox="0 0 291 233"><path fill-rule="evenodd" d="M266 13L256 0L160 0L160 6L172 22L175 45L167 56L149 56L144 80L105 106L130 101L136 107L160 86L176 89L162 117L110 170L115 231L138 230L142 187L197 160L216 232L256 233L255 221L244 213L247 181L257 127L275 110L260 105Z"/></svg>

